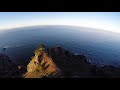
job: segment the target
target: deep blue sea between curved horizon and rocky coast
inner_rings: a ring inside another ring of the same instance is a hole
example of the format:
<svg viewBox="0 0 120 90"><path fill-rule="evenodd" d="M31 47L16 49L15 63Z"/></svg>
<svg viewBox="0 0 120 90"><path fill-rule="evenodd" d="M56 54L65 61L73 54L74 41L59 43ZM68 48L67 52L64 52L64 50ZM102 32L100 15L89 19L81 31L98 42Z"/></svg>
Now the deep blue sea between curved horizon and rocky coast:
<svg viewBox="0 0 120 90"><path fill-rule="evenodd" d="M85 54L92 63L120 66L120 34L84 27L35 26L0 32L0 53L18 64L28 62L40 43ZM6 50L3 48L6 47Z"/></svg>

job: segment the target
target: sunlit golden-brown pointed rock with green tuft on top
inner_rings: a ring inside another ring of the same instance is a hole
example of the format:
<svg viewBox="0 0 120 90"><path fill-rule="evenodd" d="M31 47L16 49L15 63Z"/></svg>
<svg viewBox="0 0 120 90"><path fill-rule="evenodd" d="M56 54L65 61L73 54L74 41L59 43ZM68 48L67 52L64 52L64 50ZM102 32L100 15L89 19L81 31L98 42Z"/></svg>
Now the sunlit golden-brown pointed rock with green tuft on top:
<svg viewBox="0 0 120 90"><path fill-rule="evenodd" d="M58 73L60 73L60 71L52 58L48 56L48 53L46 51L39 50L27 65L27 73L24 77L41 78L52 75L55 76Z"/></svg>

